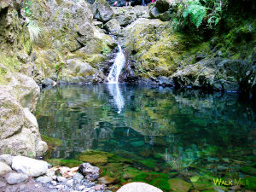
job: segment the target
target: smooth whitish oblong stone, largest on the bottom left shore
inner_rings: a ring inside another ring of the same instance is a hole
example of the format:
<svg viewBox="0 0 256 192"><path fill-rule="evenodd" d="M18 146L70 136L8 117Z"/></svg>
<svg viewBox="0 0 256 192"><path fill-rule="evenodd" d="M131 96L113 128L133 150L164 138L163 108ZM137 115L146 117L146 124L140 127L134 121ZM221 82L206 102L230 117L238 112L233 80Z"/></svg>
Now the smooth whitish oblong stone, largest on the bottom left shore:
<svg viewBox="0 0 256 192"><path fill-rule="evenodd" d="M29 177L44 175L48 170L48 163L43 160L34 160L24 156L15 156L12 168L17 172L22 172Z"/></svg>

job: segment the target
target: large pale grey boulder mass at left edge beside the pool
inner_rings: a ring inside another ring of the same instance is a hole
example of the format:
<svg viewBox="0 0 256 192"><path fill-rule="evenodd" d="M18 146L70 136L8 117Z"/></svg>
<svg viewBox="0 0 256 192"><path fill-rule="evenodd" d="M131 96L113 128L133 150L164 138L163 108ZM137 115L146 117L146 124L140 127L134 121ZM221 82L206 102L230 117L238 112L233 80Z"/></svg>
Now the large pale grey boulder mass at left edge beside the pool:
<svg viewBox="0 0 256 192"><path fill-rule="evenodd" d="M38 85L19 73L15 78L0 86L0 154L41 156L47 144L41 140L37 119L30 112L38 100Z"/></svg>

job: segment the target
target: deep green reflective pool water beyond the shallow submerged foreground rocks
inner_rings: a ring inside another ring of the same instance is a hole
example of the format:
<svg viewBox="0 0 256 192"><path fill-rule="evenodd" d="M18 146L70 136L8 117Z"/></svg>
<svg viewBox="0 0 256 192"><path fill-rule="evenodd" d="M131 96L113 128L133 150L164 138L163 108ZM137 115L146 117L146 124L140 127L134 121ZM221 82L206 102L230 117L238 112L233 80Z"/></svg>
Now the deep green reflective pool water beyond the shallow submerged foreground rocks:
<svg viewBox="0 0 256 192"><path fill-rule="evenodd" d="M236 94L97 84L43 90L36 115L40 132L62 141L53 158L85 149L129 152L155 160L161 172L170 164L178 170L209 158L255 157L254 112Z"/></svg>

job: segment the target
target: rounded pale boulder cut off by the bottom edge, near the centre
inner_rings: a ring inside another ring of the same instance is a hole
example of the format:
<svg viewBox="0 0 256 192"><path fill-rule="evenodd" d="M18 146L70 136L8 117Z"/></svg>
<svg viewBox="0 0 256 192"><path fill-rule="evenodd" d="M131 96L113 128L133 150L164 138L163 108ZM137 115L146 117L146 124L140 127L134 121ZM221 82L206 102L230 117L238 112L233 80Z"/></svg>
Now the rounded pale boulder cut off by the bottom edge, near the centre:
<svg viewBox="0 0 256 192"><path fill-rule="evenodd" d="M125 184L123 187L117 190L117 192L163 192L147 183L133 182Z"/></svg>

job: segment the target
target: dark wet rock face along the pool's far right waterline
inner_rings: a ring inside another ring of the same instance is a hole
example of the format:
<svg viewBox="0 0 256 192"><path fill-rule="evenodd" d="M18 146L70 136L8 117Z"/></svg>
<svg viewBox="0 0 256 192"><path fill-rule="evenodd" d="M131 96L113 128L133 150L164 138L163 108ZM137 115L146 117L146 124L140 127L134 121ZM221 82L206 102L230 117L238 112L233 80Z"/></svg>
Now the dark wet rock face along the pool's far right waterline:
<svg viewBox="0 0 256 192"><path fill-rule="evenodd" d="M172 74L177 86L244 92L253 86L254 78L253 65L236 60L203 59Z"/></svg>

